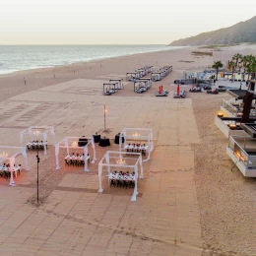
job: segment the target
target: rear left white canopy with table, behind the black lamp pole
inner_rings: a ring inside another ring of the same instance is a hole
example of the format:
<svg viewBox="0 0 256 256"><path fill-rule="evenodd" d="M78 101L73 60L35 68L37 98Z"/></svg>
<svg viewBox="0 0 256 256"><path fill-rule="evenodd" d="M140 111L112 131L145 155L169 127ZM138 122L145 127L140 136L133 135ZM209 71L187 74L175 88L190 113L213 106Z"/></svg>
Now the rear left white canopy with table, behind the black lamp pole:
<svg viewBox="0 0 256 256"><path fill-rule="evenodd" d="M52 145L55 145L55 131L53 126L30 126L26 130L20 132L20 145L24 147L24 139L28 138L26 146L28 149L38 149L42 148L44 150L44 155L47 155L47 145L48 145L48 134L52 137Z"/></svg>

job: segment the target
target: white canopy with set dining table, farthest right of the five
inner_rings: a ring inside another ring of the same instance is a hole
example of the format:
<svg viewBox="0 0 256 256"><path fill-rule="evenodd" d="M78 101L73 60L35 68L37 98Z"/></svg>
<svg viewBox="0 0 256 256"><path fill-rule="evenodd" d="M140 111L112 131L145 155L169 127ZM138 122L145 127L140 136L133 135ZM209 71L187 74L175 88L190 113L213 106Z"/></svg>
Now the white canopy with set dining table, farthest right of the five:
<svg viewBox="0 0 256 256"><path fill-rule="evenodd" d="M124 138L124 139L122 139ZM122 143L123 141L123 143ZM142 153L151 159L154 150L153 131L151 128L124 128L119 136L119 151Z"/></svg>

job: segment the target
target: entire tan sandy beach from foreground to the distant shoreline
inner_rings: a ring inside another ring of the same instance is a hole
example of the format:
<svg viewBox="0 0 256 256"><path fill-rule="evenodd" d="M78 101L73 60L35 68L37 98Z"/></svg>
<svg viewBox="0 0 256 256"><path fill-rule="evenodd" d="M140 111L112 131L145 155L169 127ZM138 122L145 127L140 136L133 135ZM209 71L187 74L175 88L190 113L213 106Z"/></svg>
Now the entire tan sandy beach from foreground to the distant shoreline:
<svg viewBox="0 0 256 256"><path fill-rule="evenodd" d="M54 126L57 142L96 132L111 141L107 148L96 145L96 163L85 172L65 164L64 150L56 170L49 138L47 156L39 156L39 207L36 153L28 152L30 171L15 178L16 187L0 178L0 255L256 255L255 179L233 167L227 139L214 124L222 98L230 96L172 98L173 82L184 71L203 71L236 52L255 55L256 47L224 47L213 57L191 54L198 50L212 51L185 47L59 66L55 78L52 68L0 76L1 145L19 146L22 130L42 125ZM102 95L104 82L125 80L145 65L173 71L143 95L129 82L114 96ZM160 85L169 96L155 96ZM110 188L105 176L104 191L97 193L97 163L107 150L118 150L113 139L125 127L152 128L154 134L136 202L132 189ZM17 161L25 165L21 156Z"/></svg>

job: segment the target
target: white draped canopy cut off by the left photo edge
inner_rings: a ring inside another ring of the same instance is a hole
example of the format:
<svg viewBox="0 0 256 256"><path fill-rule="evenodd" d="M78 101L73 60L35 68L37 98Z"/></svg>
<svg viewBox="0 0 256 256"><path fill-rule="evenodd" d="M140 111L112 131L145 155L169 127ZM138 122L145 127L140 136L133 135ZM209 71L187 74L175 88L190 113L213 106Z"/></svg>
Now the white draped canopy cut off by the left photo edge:
<svg viewBox="0 0 256 256"><path fill-rule="evenodd" d="M0 146L0 165L2 165L3 160L7 160L10 163L9 171L11 172L11 179L9 184L11 186L15 186L14 164L15 158L20 154L25 158L26 170L29 170L26 147Z"/></svg>

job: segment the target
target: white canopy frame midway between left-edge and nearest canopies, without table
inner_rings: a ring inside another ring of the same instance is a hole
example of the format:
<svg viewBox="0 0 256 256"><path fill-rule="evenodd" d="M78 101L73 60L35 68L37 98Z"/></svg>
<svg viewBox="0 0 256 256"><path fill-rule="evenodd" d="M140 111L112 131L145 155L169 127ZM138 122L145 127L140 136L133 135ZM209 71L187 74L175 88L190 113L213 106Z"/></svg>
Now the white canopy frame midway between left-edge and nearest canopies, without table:
<svg viewBox="0 0 256 256"><path fill-rule="evenodd" d="M85 143L85 141L87 141L87 144L84 146L83 143ZM89 145L92 145L93 152L94 152L94 159L92 160L92 163L95 163L96 147L95 147L95 141L93 137L66 137L63 140L61 140L59 143L55 145L56 169L60 169L60 166L59 166L59 149L60 148L67 149L68 155L69 155L70 149L84 149L85 171L89 171L88 161L87 161Z"/></svg>

